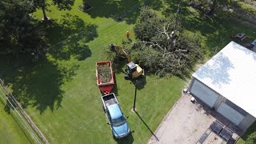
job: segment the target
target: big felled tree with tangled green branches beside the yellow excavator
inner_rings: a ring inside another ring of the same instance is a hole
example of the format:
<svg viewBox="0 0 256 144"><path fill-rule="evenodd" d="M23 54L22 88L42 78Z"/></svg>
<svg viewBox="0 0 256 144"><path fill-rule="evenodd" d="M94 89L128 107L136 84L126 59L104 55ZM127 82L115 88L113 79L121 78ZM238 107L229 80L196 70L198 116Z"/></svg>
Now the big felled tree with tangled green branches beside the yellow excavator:
<svg viewBox="0 0 256 144"><path fill-rule="evenodd" d="M144 8L134 31L142 41L132 47L134 61L159 76L188 74L198 59L202 59L200 38L183 34L175 19L159 18Z"/></svg>

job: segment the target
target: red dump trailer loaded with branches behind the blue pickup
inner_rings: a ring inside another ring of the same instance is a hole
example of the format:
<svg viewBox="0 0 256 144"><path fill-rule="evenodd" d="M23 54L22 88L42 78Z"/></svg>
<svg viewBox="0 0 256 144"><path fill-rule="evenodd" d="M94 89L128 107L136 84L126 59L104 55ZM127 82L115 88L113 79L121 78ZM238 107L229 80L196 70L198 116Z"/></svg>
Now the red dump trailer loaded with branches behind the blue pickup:
<svg viewBox="0 0 256 144"><path fill-rule="evenodd" d="M108 73L110 73L110 75L107 76L109 77L107 82L104 82L101 74L99 74L100 66L107 66L109 68ZM99 90L101 90L103 94L110 94L111 90L114 88L114 73L110 61L96 62L96 79Z"/></svg>

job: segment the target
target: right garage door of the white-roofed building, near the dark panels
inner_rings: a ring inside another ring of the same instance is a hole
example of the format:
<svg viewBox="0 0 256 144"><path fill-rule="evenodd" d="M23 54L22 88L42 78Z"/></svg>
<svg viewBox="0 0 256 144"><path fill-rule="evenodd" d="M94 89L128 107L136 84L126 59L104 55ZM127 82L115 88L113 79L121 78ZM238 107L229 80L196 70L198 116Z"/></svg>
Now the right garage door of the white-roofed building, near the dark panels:
<svg viewBox="0 0 256 144"><path fill-rule="evenodd" d="M231 106L228 106L224 102L222 102L221 105L218 106L217 111L219 114L222 114L222 116L229 119L230 122L233 122L236 126L238 126L239 123L242 122L243 118L245 118L245 116L238 113L237 110L234 110Z"/></svg>

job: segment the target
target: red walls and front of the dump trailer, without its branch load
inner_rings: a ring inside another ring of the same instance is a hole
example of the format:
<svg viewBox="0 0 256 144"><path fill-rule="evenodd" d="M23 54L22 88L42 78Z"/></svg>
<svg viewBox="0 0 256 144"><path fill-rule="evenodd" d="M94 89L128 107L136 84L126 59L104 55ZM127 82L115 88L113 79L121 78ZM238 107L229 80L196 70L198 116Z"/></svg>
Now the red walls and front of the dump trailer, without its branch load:
<svg viewBox="0 0 256 144"><path fill-rule="evenodd" d="M101 78L99 78L98 76L98 65L108 65L110 67L111 78L109 82L102 83ZM98 88L102 90L102 93L110 94L111 90L113 90L114 88L114 74L113 74L112 65L110 61L96 62L96 78L97 78Z"/></svg>

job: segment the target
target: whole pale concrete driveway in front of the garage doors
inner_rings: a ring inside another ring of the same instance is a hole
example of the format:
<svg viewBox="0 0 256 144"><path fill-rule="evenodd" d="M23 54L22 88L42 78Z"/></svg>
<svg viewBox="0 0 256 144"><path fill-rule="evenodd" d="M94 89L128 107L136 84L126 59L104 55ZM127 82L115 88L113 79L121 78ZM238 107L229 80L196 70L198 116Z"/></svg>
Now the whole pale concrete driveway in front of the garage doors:
<svg viewBox="0 0 256 144"><path fill-rule="evenodd" d="M154 135L150 138L149 144L191 144L226 143L221 137L210 130L210 125L218 119L233 130L233 138L239 138L234 126L227 122L215 111L211 111L208 106L201 102L190 102L191 96L182 94L182 97L166 115L166 118L158 126Z"/></svg>

